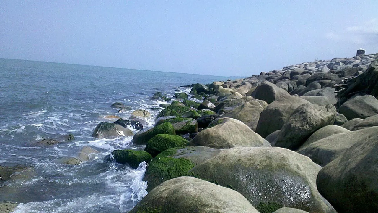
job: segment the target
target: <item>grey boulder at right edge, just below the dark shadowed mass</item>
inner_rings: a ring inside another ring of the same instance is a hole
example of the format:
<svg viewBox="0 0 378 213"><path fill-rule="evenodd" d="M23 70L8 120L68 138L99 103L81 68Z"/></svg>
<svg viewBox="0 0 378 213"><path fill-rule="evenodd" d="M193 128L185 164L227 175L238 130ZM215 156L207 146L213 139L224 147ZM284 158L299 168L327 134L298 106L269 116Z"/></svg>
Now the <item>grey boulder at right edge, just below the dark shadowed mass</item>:
<svg viewBox="0 0 378 213"><path fill-rule="evenodd" d="M356 96L339 107L339 113L348 121L353 118L365 119L378 114L378 100L374 96Z"/></svg>

